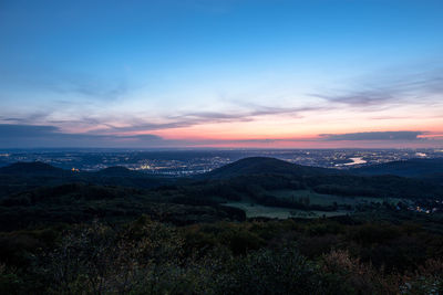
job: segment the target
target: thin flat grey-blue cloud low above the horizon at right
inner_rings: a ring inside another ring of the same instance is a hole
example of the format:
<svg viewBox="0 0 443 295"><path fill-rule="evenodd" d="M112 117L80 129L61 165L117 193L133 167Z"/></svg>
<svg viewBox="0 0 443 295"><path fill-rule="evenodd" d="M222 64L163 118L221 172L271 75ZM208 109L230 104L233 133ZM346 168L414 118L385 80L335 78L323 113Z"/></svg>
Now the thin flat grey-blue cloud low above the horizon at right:
<svg viewBox="0 0 443 295"><path fill-rule="evenodd" d="M322 140L419 140L423 131L371 131L352 134L320 134Z"/></svg>

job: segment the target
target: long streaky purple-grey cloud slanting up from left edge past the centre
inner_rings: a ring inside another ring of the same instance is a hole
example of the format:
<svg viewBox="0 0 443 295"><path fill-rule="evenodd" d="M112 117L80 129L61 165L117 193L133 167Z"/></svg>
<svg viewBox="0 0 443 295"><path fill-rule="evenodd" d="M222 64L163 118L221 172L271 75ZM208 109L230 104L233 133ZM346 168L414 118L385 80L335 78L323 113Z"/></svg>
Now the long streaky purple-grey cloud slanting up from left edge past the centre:
<svg viewBox="0 0 443 295"><path fill-rule="evenodd" d="M226 112L183 112L175 115L164 115L159 118L150 119L150 114L136 114L133 116L109 115L94 116L93 114L78 114L76 117L66 119L51 119L53 113L34 112L24 116L0 116L0 124L14 124L23 126L50 125L63 129L71 129L72 126L90 129L91 135L114 135L138 131L155 131L164 129L186 128L205 124L254 122L260 116L285 115L291 118L301 118L303 112L318 110L321 107L274 107L257 104L236 105L233 110ZM157 122L155 122L157 120ZM117 126L115 123L124 123L125 126ZM100 127L99 127L100 126Z"/></svg>

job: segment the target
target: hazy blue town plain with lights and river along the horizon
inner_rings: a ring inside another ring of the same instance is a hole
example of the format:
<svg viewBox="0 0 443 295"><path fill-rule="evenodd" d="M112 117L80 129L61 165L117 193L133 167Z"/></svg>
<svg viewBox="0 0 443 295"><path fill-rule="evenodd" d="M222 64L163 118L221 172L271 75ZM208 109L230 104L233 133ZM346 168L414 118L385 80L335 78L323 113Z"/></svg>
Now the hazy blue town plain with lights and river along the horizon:
<svg viewBox="0 0 443 295"><path fill-rule="evenodd" d="M186 176L204 173L246 157L274 157L298 165L349 169L412 158L441 158L443 149L0 150L0 167L17 161L42 161L73 171L123 166L153 175Z"/></svg>

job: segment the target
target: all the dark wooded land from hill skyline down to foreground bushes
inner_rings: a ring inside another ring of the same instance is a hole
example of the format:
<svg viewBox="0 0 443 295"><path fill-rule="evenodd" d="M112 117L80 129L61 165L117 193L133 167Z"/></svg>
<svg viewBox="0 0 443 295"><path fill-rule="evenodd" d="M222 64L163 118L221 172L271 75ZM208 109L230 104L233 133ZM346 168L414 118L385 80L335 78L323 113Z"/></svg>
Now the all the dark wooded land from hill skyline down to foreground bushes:
<svg viewBox="0 0 443 295"><path fill-rule="evenodd" d="M441 294L442 185L374 169L0 168L0 294Z"/></svg>

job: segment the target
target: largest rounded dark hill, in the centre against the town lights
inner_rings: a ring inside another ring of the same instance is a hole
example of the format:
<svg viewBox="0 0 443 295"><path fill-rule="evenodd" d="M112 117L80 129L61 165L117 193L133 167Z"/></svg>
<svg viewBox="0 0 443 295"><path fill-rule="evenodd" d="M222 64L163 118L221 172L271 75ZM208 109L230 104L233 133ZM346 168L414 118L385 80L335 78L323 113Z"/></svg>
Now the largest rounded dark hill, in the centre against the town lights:
<svg viewBox="0 0 443 295"><path fill-rule="evenodd" d="M249 175L316 176L339 173L338 170L291 164L276 158L245 158L204 175L205 178L233 178Z"/></svg>

